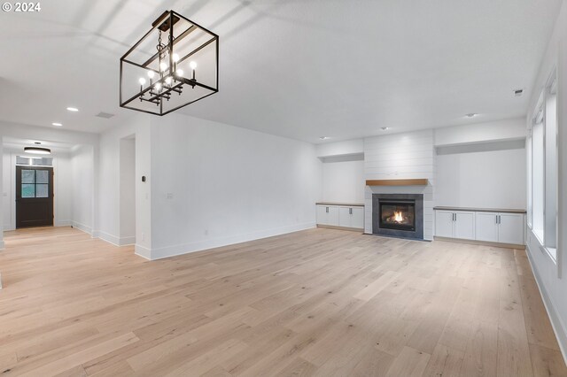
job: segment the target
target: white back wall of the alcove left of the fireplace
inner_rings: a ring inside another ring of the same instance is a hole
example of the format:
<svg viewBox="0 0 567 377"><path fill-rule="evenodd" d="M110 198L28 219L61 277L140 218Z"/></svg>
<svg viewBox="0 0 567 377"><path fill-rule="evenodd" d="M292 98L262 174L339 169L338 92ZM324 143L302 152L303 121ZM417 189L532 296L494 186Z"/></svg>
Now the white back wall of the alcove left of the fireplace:
<svg viewBox="0 0 567 377"><path fill-rule="evenodd" d="M364 160L323 160L322 202L364 203L364 187Z"/></svg>

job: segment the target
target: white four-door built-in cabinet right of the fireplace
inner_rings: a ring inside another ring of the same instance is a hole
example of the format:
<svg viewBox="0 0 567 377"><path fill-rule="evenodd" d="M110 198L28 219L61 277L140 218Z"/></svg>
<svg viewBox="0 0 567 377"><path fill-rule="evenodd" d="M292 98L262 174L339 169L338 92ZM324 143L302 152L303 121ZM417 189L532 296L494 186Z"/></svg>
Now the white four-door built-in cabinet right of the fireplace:
<svg viewBox="0 0 567 377"><path fill-rule="evenodd" d="M521 245L524 244L524 213L436 210L435 235Z"/></svg>

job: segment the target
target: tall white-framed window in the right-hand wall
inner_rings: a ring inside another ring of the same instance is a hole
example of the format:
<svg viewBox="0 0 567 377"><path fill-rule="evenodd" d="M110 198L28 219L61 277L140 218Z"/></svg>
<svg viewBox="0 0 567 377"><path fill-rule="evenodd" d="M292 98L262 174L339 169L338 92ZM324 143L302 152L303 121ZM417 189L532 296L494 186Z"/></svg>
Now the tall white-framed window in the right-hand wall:
<svg viewBox="0 0 567 377"><path fill-rule="evenodd" d="M557 247L557 89L555 73L541 93L527 140L528 226L556 260Z"/></svg>

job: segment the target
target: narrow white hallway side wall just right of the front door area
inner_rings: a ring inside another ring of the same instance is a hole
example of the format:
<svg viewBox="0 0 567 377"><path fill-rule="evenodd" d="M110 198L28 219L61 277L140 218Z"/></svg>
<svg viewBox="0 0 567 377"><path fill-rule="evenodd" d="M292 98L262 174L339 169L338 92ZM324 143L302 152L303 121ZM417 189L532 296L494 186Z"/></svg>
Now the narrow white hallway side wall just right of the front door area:
<svg viewBox="0 0 567 377"><path fill-rule="evenodd" d="M71 151L72 225L84 232L93 232L94 149L78 145Z"/></svg>

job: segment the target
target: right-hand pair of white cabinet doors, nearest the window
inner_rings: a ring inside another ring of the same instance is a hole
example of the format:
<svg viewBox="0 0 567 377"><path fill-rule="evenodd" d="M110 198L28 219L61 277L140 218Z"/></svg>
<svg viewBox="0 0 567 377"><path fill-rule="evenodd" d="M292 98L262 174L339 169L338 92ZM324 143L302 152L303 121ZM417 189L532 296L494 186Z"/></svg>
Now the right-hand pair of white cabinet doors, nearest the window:
<svg viewBox="0 0 567 377"><path fill-rule="evenodd" d="M524 243L524 214L476 212L477 240L501 243Z"/></svg>

